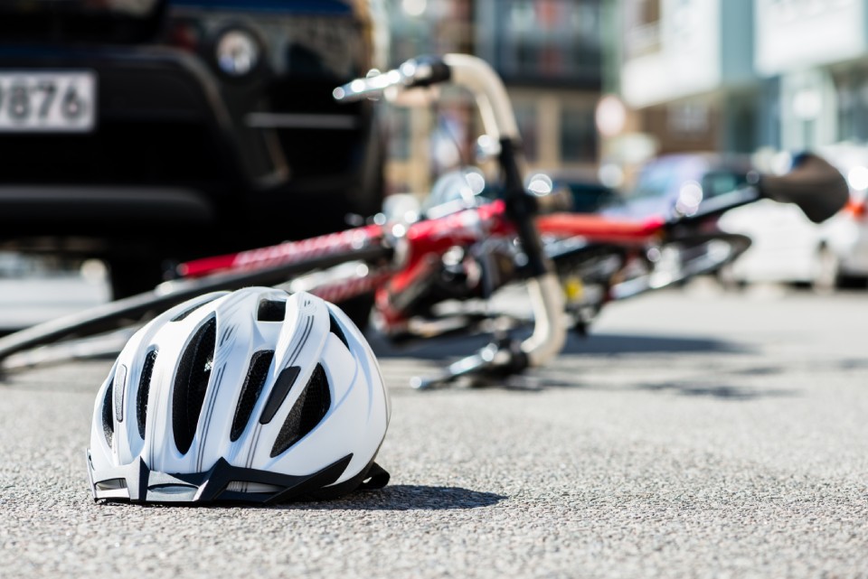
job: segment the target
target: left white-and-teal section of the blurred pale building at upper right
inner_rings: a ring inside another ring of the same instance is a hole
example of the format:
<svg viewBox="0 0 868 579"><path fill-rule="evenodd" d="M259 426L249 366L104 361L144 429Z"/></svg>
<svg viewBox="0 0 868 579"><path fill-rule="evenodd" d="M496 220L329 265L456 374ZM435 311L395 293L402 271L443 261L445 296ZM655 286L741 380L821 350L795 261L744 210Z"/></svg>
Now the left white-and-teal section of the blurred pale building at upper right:
<svg viewBox="0 0 868 579"><path fill-rule="evenodd" d="M620 94L661 153L756 146L750 0L622 0Z"/></svg>

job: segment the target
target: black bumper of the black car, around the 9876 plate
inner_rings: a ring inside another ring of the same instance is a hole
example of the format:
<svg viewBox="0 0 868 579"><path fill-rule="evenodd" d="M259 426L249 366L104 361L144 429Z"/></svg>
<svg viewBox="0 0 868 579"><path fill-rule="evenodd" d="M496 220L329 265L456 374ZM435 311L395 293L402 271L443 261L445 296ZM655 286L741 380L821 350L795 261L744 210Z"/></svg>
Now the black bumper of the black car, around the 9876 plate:
<svg viewBox="0 0 868 579"><path fill-rule="evenodd" d="M257 108L232 98L237 87L203 61L162 46L0 46L3 70L90 70L98 112L86 133L0 133L0 240L147 238L155 227L184 224L245 238L236 246L269 243L291 236L289 220L316 220L287 217L297 201L316 209L320 200L328 212L335 207L328 201L371 169L371 105L332 115L326 79L306 80L307 93L278 79L284 107L251 114ZM297 126L299 118L307 126ZM312 232L322 231L304 231Z"/></svg>

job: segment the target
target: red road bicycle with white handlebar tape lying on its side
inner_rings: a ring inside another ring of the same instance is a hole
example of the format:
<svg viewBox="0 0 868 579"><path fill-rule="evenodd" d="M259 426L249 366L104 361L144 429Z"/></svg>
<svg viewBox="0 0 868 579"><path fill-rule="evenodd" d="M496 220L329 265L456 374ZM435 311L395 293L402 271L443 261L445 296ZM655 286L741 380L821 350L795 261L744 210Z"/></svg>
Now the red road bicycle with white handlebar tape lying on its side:
<svg viewBox="0 0 868 579"><path fill-rule="evenodd" d="M297 275L353 261L364 265L361 273L338 277L312 288L313 291L334 302L376 291L378 311L387 320L391 316L393 323L401 323L414 313L411 308L402 308L401 304L411 301L412 294L425 286L433 266L442 263L448 251L453 247L478 247L490 238L504 238L510 242L517 240L524 252L526 264L522 267L522 279L531 298L533 334L517 348L510 344L506 348L490 347L480 351L476 356L454 364L442 378L448 380L474 369L520 371L550 360L561 350L565 340L564 298L548 255L552 248L549 247L547 252L543 247L541 232L575 241L568 244L559 257L578 257L581 260L586 255L593 258L599 250L617 253L637 251L673 240L702 241L702 235L698 238L694 234L679 237L678 229L684 224L763 197L795 202L815 221L834 214L848 198L846 182L840 173L819 158L807 155L788 175L763 177L754 186L717 198L693 216L639 221L565 213L537 217L540 200L524 191L521 178L519 137L512 107L500 79L484 61L467 55L408 61L399 70L357 79L336 89L335 98L350 100L383 94L394 98L403 89L427 87L449 80L470 90L476 98L486 134L500 141L498 161L504 191L501 200L458 210L439 219L411 224L375 224L273 247L193 260L178 268L181 279L158 286L153 292L104 304L0 338L0 360L15 352L71 335L93 335L117 327L118 321L136 320L197 294L245 285L278 285ZM700 265L684 268L682 275L702 273L704 266L697 263ZM622 284L619 293L612 293L609 298L641 293L672 283L672 279L669 277L661 283L628 280L639 283Z"/></svg>

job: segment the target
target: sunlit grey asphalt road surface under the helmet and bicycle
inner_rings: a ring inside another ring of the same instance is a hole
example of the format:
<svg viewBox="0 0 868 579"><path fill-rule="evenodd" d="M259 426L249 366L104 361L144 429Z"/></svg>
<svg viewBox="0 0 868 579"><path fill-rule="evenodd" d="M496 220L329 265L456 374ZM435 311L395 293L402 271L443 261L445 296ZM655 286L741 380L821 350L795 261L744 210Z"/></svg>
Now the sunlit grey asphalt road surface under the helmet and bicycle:
<svg viewBox="0 0 868 579"><path fill-rule="evenodd" d="M378 346L384 490L278 508L95 504L109 361L0 384L0 576L868 577L868 294L614 304L497 388Z"/></svg>

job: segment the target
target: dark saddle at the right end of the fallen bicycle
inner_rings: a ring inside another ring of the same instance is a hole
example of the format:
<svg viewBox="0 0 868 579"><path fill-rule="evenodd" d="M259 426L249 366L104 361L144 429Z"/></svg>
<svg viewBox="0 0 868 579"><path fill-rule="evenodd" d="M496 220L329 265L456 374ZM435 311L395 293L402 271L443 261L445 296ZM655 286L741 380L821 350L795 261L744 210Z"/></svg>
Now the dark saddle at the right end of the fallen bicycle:
<svg viewBox="0 0 868 579"><path fill-rule="evenodd" d="M797 155L794 165L787 174L760 177L757 183L760 194L774 201L795 203L815 223L844 208L850 199L850 188L834 166L812 153Z"/></svg>

